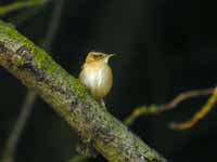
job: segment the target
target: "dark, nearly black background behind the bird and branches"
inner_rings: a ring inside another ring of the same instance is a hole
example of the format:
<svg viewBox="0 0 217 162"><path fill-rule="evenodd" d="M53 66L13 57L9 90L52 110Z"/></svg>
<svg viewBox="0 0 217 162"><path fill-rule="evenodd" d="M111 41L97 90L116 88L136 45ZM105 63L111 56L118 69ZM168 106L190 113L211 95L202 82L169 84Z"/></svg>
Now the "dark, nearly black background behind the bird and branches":
<svg viewBox="0 0 217 162"><path fill-rule="evenodd" d="M39 44L52 8L50 3L2 18ZM39 12L25 21L14 18L34 11ZM74 76L78 76L89 51L115 53L111 62L114 86L105 100L108 111L124 120L137 106L163 104L180 92L216 85L216 5L208 0L65 0L51 53ZM0 152L26 91L0 67ZM130 129L169 161L217 161L215 108L189 131L168 127L171 121L191 118L206 99L189 99L173 111L141 117ZM75 154L76 140L69 126L37 99L18 143L16 160L67 161Z"/></svg>

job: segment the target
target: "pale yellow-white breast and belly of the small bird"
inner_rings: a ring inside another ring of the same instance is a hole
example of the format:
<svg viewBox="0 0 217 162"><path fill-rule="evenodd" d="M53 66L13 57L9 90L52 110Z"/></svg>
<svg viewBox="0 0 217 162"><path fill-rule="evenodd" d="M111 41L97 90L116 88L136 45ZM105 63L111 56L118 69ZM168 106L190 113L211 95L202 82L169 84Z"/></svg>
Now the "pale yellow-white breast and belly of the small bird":
<svg viewBox="0 0 217 162"><path fill-rule="evenodd" d="M79 75L79 80L94 97L103 98L113 84L112 69L105 63L86 65Z"/></svg>

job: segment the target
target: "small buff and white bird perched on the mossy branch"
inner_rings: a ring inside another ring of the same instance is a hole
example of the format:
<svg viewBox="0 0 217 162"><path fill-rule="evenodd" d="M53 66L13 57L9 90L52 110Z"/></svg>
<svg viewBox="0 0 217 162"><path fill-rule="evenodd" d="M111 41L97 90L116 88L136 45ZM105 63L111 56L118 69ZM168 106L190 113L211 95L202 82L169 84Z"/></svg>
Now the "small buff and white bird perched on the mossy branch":
<svg viewBox="0 0 217 162"><path fill-rule="evenodd" d="M110 93L113 84L113 73L108 66L112 56L114 54L90 52L81 67L79 80L99 102Z"/></svg>

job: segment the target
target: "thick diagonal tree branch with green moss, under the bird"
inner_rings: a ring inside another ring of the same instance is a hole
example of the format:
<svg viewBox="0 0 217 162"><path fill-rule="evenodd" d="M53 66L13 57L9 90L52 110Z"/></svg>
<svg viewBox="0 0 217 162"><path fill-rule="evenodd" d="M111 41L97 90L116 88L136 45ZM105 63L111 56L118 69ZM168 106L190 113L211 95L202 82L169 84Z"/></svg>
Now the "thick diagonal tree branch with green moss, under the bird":
<svg viewBox="0 0 217 162"><path fill-rule="evenodd" d="M3 22L0 65L38 93L84 143L90 143L108 161L166 161L103 109L51 56Z"/></svg>

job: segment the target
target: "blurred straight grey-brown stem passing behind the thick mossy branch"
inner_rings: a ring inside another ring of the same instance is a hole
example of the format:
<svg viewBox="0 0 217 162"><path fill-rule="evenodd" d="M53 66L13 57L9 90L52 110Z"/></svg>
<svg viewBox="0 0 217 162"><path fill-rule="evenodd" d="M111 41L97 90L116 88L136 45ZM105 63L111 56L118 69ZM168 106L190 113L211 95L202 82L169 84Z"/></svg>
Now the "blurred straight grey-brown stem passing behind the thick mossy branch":
<svg viewBox="0 0 217 162"><path fill-rule="evenodd" d="M58 31L59 24L61 21L63 5L64 5L64 0L56 0L56 2L54 4L53 11L52 11L52 17L49 23L47 35L44 37L43 42L41 43L41 46L48 51L50 50L51 43L54 40L55 33ZM34 107L36 99L37 99L37 94L29 90L24 98L21 113L17 117L17 121L15 122L15 125L12 129L12 132L5 144L2 162L13 162L14 161L14 153L15 153L15 150L17 147L18 139L25 127L26 121L30 116L30 112L31 112L31 109Z"/></svg>

